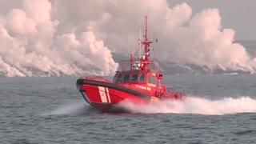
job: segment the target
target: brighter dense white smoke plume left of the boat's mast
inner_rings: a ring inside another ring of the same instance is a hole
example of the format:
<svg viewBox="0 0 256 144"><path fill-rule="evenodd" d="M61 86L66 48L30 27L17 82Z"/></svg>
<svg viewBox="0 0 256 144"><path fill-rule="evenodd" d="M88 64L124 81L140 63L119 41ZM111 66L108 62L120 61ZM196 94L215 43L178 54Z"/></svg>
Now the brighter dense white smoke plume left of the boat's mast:
<svg viewBox="0 0 256 144"><path fill-rule="evenodd" d="M6 76L112 74L117 64L91 30L58 34L52 3L25 0L0 16L0 71Z"/></svg>

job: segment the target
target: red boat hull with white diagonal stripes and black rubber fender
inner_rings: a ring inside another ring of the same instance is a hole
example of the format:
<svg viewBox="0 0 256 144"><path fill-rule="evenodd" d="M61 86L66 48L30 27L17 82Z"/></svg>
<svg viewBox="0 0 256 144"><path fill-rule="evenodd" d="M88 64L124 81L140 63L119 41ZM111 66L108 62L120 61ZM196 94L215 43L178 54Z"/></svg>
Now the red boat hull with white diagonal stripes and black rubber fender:
<svg viewBox="0 0 256 144"><path fill-rule="evenodd" d="M138 104L146 104L152 99L150 95L110 82L78 79L77 86L86 102L104 113L122 111L115 104L125 99Z"/></svg>

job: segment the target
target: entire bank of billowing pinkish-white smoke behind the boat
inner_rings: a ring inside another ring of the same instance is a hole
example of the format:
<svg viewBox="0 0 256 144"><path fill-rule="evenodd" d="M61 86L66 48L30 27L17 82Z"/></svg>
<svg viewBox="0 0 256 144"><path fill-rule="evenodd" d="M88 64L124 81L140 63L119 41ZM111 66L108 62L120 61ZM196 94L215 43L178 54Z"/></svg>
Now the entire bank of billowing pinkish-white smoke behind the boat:
<svg viewBox="0 0 256 144"><path fill-rule="evenodd" d="M145 14L161 62L256 70L255 58L234 43L234 30L222 29L217 9L192 16L186 3L166 0L25 0L0 15L0 73L113 74L118 64L111 52L137 47Z"/></svg>

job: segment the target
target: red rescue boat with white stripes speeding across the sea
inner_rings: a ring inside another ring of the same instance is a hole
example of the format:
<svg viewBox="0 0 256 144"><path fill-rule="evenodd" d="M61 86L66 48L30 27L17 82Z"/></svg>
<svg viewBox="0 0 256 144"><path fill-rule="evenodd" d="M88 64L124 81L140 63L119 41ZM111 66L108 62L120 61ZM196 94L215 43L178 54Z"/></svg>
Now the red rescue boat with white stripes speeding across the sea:
<svg viewBox="0 0 256 144"><path fill-rule="evenodd" d="M144 105L152 101L182 100L186 97L185 93L166 90L160 63L150 59L150 44L158 40L148 40L146 16L143 37L143 41L138 39L138 50L130 50L130 60L119 62L119 70L113 81L94 75L78 78L77 88L90 106L106 113L120 111L118 103L124 100Z"/></svg>

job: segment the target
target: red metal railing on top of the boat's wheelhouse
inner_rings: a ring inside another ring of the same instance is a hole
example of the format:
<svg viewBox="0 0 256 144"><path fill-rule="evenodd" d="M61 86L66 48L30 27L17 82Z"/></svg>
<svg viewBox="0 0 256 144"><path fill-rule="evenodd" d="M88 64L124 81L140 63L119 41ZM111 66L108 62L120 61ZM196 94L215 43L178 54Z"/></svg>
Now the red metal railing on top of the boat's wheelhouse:
<svg viewBox="0 0 256 144"><path fill-rule="evenodd" d="M147 70L154 72L161 72L160 63L158 61L148 61L144 62L139 58L134 58L133 61L126 60L119 62L119 70L127 71L127 70L140 70L143 65L147 65Z"/></svg>

